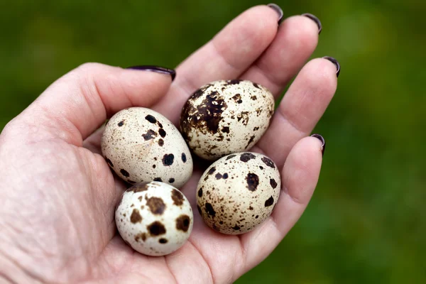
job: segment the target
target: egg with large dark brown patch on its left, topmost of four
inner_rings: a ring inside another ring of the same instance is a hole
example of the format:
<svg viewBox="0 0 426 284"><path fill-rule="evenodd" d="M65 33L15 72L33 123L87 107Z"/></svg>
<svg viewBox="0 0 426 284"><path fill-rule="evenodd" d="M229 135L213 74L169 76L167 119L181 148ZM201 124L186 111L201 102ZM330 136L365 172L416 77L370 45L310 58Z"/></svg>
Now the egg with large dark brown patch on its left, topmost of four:
<svg viewBox="0 0 426 284"><path fill-rule="evenodd" d="M198 89L180 116L180 131L205 160L249 150L263 136L274 113L266 87L248 80L220 80Z"/></svg>

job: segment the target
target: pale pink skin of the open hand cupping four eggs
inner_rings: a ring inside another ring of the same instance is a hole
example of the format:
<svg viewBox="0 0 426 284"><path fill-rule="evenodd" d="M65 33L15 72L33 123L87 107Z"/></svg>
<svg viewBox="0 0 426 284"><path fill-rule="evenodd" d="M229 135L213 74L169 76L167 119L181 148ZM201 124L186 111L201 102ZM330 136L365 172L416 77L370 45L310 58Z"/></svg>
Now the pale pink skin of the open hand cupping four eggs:
<svg viewBox="0 0 426 284"><path fill-rule="evenodd" d="M0 136L0 280L6 283L232 283L260 263L300 218L317 184L322 143L307 137L337 87L324 59L305 62L317 25L256 6L231 21L170 76L86 64L52 84ZM303 65L305 65L303 67ZM303 68L302 68L303 67ZM302 68L302 70L300 70ZM120 109L149 107L178 124L187 97L219 79L253 80L278 97L296 73L267 133L251 149L280 168L270 218L226 236L202 222L195 168L181 188L195 212L181 249L165 257L132 251L116 233L114 209L126 185L100 153L101 126Z"/></svg>

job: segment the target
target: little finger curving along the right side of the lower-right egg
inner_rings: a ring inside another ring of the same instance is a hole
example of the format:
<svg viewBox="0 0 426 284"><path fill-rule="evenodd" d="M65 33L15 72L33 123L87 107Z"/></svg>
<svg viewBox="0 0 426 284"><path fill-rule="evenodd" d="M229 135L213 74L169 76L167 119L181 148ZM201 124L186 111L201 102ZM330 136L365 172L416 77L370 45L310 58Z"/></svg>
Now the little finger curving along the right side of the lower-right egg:
<svg viewBox="0 0 426 284"><path fill-rule="evenodd" d="M320 176L322 144L317 138L307 137L291 150L281 172L282 188L271 217L241 236L246 252L246 266L241 273L263 261L304 212Z"/></svg>

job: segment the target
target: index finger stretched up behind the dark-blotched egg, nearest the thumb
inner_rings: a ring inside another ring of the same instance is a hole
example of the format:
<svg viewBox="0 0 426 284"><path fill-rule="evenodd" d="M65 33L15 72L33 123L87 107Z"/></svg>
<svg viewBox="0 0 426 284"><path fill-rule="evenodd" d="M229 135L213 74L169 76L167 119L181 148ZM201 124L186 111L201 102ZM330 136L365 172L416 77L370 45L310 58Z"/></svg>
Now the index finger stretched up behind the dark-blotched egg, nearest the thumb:
<svg viewBox="0 0 426 284"><path fill-rule="evenodd" d="M182 62L170 92L154 109L177 124L180 111L176 109L182 109L192 92L215 80L236 79L266 50L277 32L278 19L268 6L241 13Z"/></svg>

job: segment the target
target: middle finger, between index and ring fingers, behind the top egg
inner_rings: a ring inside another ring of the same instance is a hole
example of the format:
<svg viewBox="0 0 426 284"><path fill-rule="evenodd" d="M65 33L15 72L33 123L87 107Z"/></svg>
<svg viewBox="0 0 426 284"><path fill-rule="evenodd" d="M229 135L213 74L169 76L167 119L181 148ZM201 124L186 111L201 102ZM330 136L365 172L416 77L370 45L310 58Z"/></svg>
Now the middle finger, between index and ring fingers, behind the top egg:
<svg viewBox="0 0 426 284"><path fill-rule="evenodd" d="M281 23L273 43L241 79L267 87L278 96L310 58L318 43L318 26L306 16L293 16Z"/></svg>

